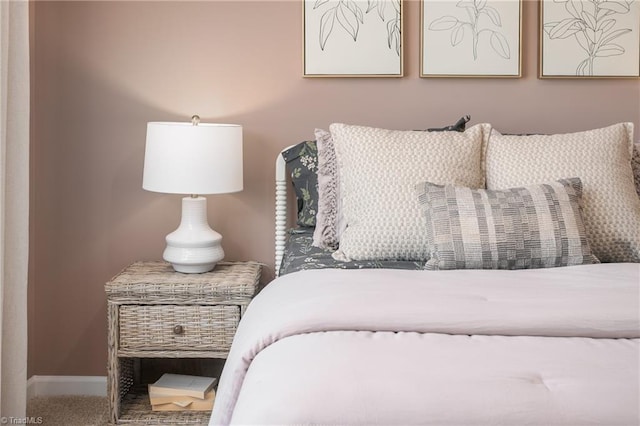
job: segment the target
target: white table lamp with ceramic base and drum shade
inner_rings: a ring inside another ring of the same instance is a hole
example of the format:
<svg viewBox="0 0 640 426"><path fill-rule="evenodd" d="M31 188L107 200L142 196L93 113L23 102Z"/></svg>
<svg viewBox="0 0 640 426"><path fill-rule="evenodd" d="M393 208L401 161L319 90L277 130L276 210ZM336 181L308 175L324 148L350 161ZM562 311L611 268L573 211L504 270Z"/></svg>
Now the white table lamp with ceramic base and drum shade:
<svg viewBox="0 0 640 426"><path fill-rule="evenodd" d="M242 191L242 126L147 123L142 188L189 195L178 229L167 235L163 258L178 272L211 271L224 258L222 236L207 221L205 194Z"/></svg>

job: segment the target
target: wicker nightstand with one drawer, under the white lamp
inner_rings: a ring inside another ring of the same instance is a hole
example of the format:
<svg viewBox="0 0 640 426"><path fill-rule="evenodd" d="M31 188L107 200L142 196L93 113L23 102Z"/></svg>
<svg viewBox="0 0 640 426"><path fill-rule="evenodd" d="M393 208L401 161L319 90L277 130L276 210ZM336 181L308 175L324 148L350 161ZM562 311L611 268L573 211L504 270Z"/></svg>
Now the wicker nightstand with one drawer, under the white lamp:
<svg viewBox="0 0 640 426"><path fill-rule="evenodd" d="M107 385L115 424L207 424L208 411L151 411L141 360L226 358L261 265L221 262L182 274L165 262L136 262L105 285ZM157 378L157 377L156 377Z"/></svg>

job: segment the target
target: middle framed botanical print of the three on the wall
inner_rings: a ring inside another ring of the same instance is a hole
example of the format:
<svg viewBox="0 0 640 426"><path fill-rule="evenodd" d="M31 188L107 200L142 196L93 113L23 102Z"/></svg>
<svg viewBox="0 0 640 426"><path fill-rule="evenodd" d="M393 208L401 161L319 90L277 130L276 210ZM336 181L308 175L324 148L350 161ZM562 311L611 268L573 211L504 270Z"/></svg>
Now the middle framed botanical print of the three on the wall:
<svg viewBox="0 0 640 426"><path fill-rule="evenodd" d="M421 77L521 72L521 0L421 0Z"/></svg>

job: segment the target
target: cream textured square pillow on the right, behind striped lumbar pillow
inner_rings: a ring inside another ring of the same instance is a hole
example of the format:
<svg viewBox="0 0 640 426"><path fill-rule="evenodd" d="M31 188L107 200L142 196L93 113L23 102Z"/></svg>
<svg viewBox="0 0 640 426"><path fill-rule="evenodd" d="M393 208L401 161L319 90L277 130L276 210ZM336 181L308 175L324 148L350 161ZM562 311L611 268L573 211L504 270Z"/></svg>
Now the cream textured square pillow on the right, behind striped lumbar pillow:
<svg viewBox="0 0 640 426"><path fill-rule="evenodd" d="M640 261L640 199L631 169L633 124L556 135L501 135L486 147L488 189L579 176L587 236L601 262Z"/></svg>

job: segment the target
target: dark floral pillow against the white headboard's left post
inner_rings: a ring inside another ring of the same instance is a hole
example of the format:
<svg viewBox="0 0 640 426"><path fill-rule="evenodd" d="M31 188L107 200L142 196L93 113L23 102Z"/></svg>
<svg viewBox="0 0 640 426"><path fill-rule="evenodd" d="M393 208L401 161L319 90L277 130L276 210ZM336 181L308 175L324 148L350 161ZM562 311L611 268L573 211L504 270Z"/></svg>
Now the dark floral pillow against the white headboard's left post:
<svg viewBox="0 0 640 426"><path fill-rule="evenodd" d="M282 152L291 174L296 194L297 224L304 227L316 225L318 208L318 148L316 141L304 141Z"/></svg>

